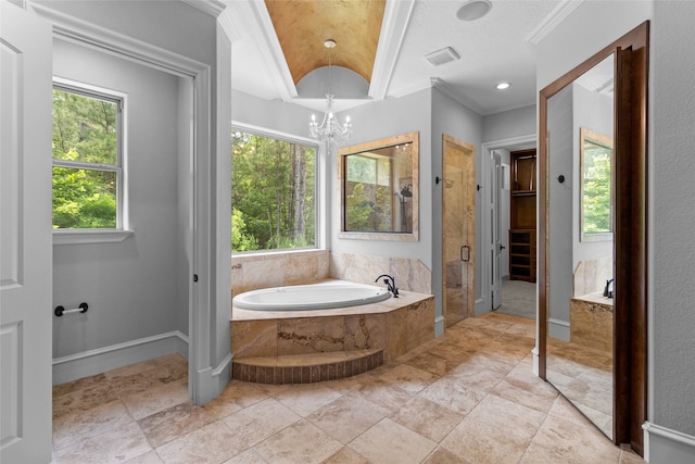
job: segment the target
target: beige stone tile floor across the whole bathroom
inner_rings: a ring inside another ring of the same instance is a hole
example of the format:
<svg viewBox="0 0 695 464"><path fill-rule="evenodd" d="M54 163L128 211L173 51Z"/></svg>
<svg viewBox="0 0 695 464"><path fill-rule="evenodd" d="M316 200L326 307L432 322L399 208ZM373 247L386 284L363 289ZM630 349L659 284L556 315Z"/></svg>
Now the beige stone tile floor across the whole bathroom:
<svg viewBox="0 0 695 464"><path fill-rule="evenodd" d="M178 355L53 389L53 462L643 463L533 376L534 322L462 321L343 380L188 401Z"/></svg>

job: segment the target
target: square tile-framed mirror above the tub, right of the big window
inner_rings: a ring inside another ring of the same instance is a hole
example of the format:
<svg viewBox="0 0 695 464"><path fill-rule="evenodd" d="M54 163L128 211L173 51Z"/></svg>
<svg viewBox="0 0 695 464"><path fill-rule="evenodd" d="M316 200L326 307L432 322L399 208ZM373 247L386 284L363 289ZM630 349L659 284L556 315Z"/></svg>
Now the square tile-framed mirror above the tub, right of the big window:
<svg viewBox="0 0 695 464"><path fill-rule="evenodd" d="M338 151L341 238L418 239L418 133Z"/></svg>

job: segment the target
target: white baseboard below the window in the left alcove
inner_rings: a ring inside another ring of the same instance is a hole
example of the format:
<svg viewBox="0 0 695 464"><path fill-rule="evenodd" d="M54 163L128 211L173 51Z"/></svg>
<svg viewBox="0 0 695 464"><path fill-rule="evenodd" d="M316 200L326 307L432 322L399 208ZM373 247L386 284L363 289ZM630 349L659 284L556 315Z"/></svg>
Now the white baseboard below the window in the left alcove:
<svg viewBox="0 0 695 464"><path fill-rule="evenodd" d="M178 353L188 359L188 337L178 330L53 360L53 385Z"/></svg>

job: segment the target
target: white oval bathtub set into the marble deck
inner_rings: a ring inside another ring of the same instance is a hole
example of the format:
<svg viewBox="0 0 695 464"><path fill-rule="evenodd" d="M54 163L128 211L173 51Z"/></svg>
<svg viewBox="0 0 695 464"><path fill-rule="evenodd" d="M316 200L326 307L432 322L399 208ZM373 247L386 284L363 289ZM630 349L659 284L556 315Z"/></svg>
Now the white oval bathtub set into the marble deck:
<svg viewBox="0 0 695 464"><path fill-rule="evenodd" d="M236 296L231 304L253 311L311 311L376 303L390 297L382 287L331 280L245 291Z"/></svg>

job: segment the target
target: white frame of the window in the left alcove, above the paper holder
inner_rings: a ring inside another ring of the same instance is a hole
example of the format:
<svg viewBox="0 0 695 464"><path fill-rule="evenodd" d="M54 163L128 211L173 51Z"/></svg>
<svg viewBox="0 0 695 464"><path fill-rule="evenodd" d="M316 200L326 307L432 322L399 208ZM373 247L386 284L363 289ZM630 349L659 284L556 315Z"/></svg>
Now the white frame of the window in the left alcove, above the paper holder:
<svg viewBox="0 0 695 464"><path fill-rule="evenodd" d="M121 242L132 235L128 228L126 183L127 95L112 89L53 76L52 89L116 104L116 160L114 164L58 160L51 153L51 168L66 167L109 172L116 176L116 227L53 229L53 244ZM52 210L51 210L52 211Z"/></svg>

